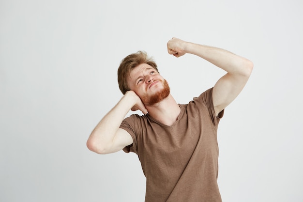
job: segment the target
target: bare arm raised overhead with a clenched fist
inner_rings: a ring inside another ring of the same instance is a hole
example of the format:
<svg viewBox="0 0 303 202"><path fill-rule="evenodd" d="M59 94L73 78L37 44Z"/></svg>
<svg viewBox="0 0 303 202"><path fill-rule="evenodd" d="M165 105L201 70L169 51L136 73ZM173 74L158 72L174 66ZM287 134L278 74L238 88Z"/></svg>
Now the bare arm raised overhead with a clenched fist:
<svg viewBox="0 0 303 202"><path fill-rule="evenodd" d="M169 54L180 57L185 53L197 55L227 71L213 87L212 98L216 115L242 91L253 69L253 63L227 50L172 38L167 42Z"/></svg>

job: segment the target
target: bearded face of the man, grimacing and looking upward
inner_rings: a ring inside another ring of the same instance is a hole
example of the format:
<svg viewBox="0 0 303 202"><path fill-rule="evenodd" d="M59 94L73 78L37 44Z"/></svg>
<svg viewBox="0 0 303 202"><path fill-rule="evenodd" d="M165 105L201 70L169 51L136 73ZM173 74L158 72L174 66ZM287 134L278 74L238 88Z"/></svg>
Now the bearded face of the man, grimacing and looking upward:
<svg viewBox="0 0 303 202"><path fill-rule="evenodd" d="M127 83L146 106L162 101L170 93L167 81L152 66L145 63L131 71Z"/></svg>

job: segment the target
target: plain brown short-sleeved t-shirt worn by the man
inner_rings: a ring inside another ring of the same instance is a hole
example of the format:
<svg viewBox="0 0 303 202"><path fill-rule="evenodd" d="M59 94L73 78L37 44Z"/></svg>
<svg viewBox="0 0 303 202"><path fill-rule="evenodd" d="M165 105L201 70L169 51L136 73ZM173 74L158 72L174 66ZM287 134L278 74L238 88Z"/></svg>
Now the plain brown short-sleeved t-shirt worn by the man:
<svg viewBox="0 0 303 202"><path fill-rule="evenodd" d="M145 202L221 202L217 185L217 126L224 111L215 116L212 88L180 105L181 113L171 126L151 116L131 115L121 128L133 144L146 176Z"/></svg>

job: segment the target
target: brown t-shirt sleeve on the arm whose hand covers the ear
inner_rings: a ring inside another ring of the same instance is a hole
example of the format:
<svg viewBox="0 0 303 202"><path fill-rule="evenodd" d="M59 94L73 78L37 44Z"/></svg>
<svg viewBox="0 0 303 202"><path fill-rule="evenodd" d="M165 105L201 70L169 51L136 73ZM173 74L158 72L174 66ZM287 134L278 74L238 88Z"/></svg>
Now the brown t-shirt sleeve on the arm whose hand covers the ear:
<svg viewBox="0 0 303 202"><path fill-rule="evenodd" d="M135 128L134 119L135 119L135 115L131 115L130 117L125 118L120 125L120 128L126 130L133 138L133 143L123 148L123 151L125 153L134 152L137 154L137 149L136 149L137 139L136 139L136 133L134 131Z"/></svg>

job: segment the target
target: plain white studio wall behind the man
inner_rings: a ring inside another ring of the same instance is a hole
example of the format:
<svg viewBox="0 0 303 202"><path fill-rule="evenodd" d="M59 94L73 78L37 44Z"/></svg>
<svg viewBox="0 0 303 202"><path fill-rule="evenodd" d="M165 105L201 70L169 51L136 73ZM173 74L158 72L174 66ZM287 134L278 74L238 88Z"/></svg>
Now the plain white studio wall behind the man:
<svg viewBox="0 0 303 202"><path fill-rule="evenodd" d="M167 54L171 37L254 62L219 124L224 202L303 201L301 0L0 0L0 202L143 202L137 156L86 140L145 50L178 103L225 72Z"/></svg>

